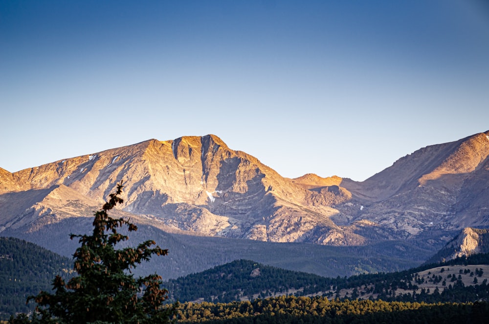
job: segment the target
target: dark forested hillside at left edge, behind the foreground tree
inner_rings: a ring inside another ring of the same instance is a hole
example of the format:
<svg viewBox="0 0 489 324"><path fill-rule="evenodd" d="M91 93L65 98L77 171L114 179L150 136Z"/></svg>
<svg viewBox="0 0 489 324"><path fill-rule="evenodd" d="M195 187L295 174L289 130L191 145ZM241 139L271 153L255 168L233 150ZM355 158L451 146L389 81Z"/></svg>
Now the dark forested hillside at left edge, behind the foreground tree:
<svg viewBox="0 0 489 324"><path fill-rule="evenodd" d="M0 319L34 308L27 296L51 290L53 278L69 278L72 262L38 245L12 237L0 237Z"/></svg>

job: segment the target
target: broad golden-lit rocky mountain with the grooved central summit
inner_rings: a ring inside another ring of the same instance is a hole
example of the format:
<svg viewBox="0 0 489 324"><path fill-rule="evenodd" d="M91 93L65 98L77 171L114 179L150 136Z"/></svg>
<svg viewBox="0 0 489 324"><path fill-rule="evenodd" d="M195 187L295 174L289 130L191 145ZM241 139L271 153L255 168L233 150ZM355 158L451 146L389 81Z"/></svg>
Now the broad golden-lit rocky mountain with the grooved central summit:
<svg viewBox="0 0 489 324"><path fill-rule="evenodd" d="M43 217L49 223L91 215L73 214L74 206L100 204L124 180L123 211L169 228L273 242L323 242L334 231L330 244L349 243L346 234L333 239L345 230L330 220L338 213L331 205L351 199L346 189L308 190L214 135L151 139L15 174L5 171L4 178L5 198L35 196L0 220L4 228L34 226Z"/></svg>

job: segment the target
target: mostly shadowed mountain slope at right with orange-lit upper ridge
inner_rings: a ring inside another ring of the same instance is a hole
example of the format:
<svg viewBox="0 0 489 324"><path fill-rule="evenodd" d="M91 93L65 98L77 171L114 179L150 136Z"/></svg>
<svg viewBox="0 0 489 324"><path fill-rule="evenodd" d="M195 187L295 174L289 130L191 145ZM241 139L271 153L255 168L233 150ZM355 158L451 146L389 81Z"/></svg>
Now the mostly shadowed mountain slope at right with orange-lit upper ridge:
<svg viewBox="0 0 489 324"><path fill-rule="evenodd" d="M362 183L344 181L365 207L352 221L372 221L399 237L488 226L488 155L489 131L422 148Z"/></svg>

